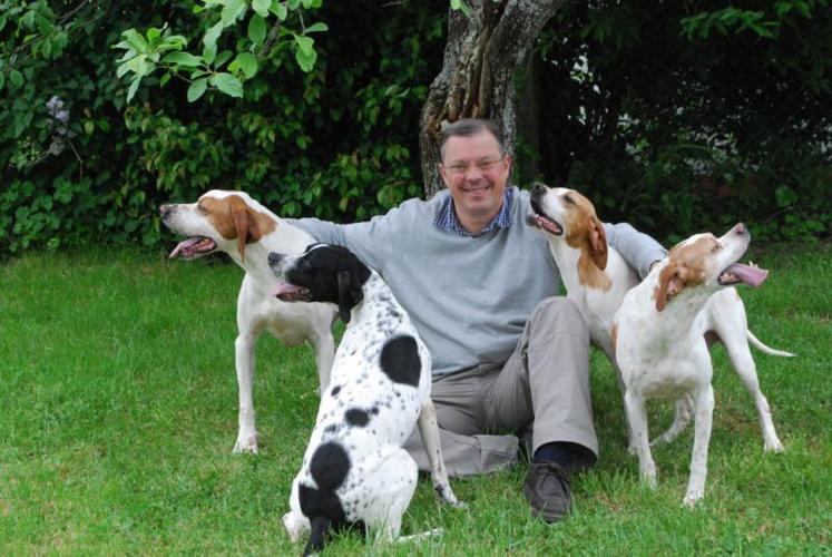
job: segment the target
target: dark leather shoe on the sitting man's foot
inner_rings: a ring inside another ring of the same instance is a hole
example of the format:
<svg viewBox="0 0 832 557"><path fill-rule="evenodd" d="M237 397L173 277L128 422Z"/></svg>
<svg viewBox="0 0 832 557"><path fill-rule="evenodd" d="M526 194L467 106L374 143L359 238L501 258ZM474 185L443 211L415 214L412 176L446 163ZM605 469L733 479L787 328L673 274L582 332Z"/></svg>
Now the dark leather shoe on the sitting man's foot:
<svg viewBox="0 0 832 557"><path fill-rule="evenodd" d="M572 507L569 471L554 462L531 462L522 492L531 515L549 524L562 520Z"/></svg>

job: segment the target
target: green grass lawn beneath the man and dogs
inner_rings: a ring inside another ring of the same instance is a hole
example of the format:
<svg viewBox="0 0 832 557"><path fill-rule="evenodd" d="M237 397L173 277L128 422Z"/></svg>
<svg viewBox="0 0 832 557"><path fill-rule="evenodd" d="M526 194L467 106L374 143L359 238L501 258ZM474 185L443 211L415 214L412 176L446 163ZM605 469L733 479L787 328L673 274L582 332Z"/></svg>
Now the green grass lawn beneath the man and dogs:
<svg viewBox="0 0 832 557"><path fill-rule="evenodd" d="M751 398L715 351L705 500L682 507L692 428L654 452L659 487L625 450L611 369L593 354L601 458L574 482L564 524L529 517L523 467L452 480L469 508L420 481L407 546L343 535L327 555L825 554L832 545L832 246L756 248L772 270L744 290L752 330L796 359L755 352L786 446L764 455ZM0 267L0 554L300 554L280 517L314 421L309 348L258 345L262 451L232 455L233 342L242 272L108 251L32 254ZM650 407L654 431L672 419Z"/></svg>

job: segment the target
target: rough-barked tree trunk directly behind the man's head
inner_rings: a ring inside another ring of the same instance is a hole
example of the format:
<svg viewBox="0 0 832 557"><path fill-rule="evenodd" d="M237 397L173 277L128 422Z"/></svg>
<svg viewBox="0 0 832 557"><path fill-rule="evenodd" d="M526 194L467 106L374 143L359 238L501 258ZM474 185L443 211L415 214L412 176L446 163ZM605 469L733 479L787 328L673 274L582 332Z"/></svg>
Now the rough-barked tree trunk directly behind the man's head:
<svg viewBox="0 0 832 557"><path fill-rule="evenodd" d="M442 70L422 108L419 148L425 197L444 185L437 166L443 125L461 118L496 121L513 154L515 75L540 29L565 0L468 0L471 16L448 14Z"/></svg>

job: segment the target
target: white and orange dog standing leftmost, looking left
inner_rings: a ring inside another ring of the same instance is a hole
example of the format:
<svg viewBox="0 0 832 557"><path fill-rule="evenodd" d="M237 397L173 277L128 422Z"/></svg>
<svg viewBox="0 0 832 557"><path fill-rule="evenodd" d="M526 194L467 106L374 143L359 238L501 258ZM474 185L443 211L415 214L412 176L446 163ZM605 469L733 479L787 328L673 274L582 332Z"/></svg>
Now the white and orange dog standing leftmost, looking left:
<svg viewBox="0 0 832 557"><path fill-rule="evenodd" d="M239 387L239 431L234 452L257 452L252 387L254 349L264 331L286 345L311 342L322 391L330 382L335 310L330 304L292 304L275 299L272 292L277 278L268 267L270 252L300 255L315 241L243 192L214 189L197 203L163 205L159 211L165 226L189 236L170 257L193 260L224 252L245 271L237 295L238 335L234 342Z"/></svg>

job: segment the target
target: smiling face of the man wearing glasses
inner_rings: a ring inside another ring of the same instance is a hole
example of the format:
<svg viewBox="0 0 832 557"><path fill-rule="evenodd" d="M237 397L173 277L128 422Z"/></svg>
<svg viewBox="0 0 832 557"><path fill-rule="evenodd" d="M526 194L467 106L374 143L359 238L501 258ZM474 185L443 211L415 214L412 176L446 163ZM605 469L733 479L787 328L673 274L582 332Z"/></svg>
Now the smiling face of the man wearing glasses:
<svg viewBox="0 0 832 557"><path fill-rule="evenodd" d="M488 130L446 141L439 169L463 226L484 226L499 213L510 168L511 157L500 155L497 138Z"/></svg>

